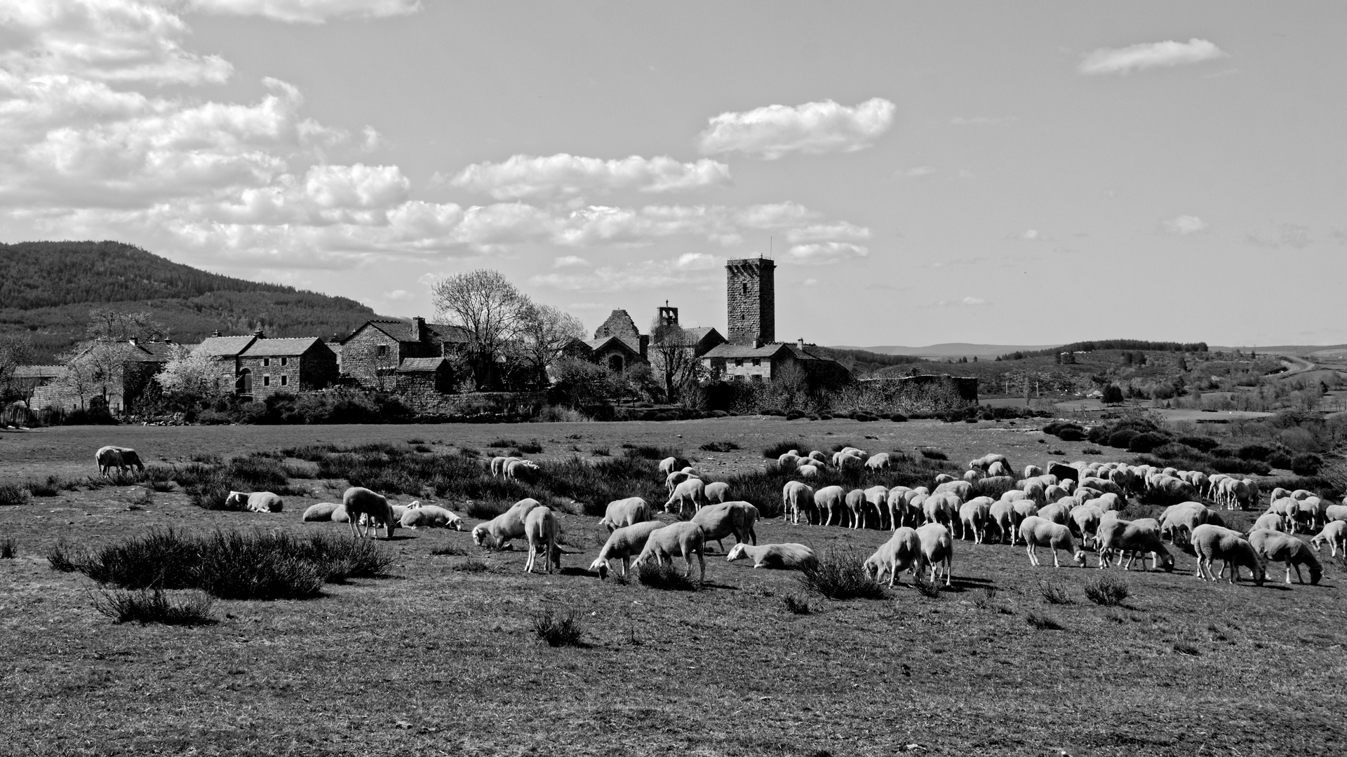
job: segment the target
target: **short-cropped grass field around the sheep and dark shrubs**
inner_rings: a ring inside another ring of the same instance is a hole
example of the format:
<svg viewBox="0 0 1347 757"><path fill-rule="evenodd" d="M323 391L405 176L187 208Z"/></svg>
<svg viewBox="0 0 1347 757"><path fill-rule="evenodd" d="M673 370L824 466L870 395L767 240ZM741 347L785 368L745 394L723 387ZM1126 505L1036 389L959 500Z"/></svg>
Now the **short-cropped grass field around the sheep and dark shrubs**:
<svg viewBox="0 0 1347 757"><path fill-rule="evenodd" d="M1040 445L1028 428L742 418L54 428L0 435L0 474L88 475L101 443L158 462L319 440L488 454L493 440L536 438L541 458L571 446L617 454L628 442L680 446L713 477L761 466L764 446L793 436L932 446L952 461L1002 451L1021 466L1049 449L1079 458L1080 443ZM742 449L699 451L713 440ZM342 486L302 484L319 497ZM0 754L1290 756L1339 753L1347 737L1340 563L1325 564L1319 586L1288 587L1277 566L1262 587L1230 586L1196 581L1193 559L1177 554L1173 574L1110 570L1129 597L1103 607L1084 595L1103 572L1092 554L1088 570L1032 568L1022 548L960 541L955 586L935 598L902 586L830 602L806 595L796 574L719 551L700 591L601 582L585 568L606 532L564 515L577 554L560 574L525 575L523 551L480 551L466 531L399 531L383 578L327 585L314 599L217 601L218 622L190 628L113 624L94 610L98 585L44 559L61 539L108 544L152 525L343 532L299 523L317 498L287 497L277 515L207 512L180 490L147 498L117 486L0 508L18 550L0 560ZM757 535L859 556L888 536L780 520ZM1051 603L1053 587L1070 603ZM812 612L791 612L787 597ZM544 610L574 613L582 645L540 641Z"/></svg>

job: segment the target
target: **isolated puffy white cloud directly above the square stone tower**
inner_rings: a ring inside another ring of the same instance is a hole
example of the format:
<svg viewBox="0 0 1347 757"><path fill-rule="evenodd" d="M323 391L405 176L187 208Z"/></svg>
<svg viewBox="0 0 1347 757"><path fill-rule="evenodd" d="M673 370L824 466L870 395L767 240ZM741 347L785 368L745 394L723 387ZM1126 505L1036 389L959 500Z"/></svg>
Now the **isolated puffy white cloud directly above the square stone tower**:
<svg viewBox="0 0 1347 757"><path fill-rule="evenodd" d="M727 112L709 120L698 148L703 155L742 152L764 160L791 152L855 152L889 131L894 110L893 102L874 97L854 108L824 100Z"/></svg>

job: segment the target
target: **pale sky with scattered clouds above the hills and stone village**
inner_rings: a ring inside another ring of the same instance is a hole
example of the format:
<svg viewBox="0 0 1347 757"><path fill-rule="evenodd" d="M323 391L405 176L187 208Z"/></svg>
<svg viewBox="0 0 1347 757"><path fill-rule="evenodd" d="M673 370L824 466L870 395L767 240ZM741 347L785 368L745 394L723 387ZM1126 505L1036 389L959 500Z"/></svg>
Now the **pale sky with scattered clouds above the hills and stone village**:
<svg viewBox="0 0 1347 757"><path fill-rule="evenodd" d="M0 241L432 318L1347 342L1347 4L0 0Z"/></svg>

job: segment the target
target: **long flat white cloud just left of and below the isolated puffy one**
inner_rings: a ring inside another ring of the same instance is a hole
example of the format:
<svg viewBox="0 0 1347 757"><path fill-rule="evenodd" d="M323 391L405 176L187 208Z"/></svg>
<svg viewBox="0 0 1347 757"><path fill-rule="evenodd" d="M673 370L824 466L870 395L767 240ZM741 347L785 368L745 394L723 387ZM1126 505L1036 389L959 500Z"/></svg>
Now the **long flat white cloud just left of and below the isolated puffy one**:
<svg viewBox="0 0 1347 757"><path fill-rule="evenodd" d="M504 163L474 163L449 183L496 199L554 199L624 189L659 194L729 185L730 167L706 158L679 163L667 156L601 160L564 152L547 158L513 155Z"/></svg>

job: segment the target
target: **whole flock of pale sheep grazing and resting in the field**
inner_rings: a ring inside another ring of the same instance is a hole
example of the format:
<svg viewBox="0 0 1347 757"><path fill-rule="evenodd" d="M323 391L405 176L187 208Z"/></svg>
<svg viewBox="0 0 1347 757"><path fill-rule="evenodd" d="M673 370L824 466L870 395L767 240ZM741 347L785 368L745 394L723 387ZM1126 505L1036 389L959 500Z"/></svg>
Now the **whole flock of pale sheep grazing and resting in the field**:
<svg viewBox="0 0 1347 757"><path fill-rule="evenodd" d="M121 470L124 465L137 466L140 461L133 450L104 447L97 453L97 462L108 474L110 467ZM1315 552L1325 543L1334 556L1338 550L1347 550L1347 504L1327 504L1307 490L1274 489L1268 512L1255 520L1249 533L1227 528L1219 511L1196 498L1208 497L1226 509L1249 508L1258 504L1261 492L1251 480L1224 474L1208 477L1200 471L1117 462L1053 462L1048 463L1047 471L1029 465L1024 475L1016 478L1005 455L989 454L971 461L960 478L938 475L933 489L870 486L847 492L842 486L815 490L807 481L830 465L884 470L892 465L890 455L870 455L857 447L842 449L831 458L818 451L800 455L792 450L783 454L777 463L787 470L793 466L799 477L788 481L781 492L784 523L797 525L803 519L806 525L835 523L853 529L873 527L893 531L889 541L863 563L866 574L876 581L889 574L889 586L902 571L913 578L929 571L929 581L943 578L950 585L955 539L975 544L989 540L998 544L1009 540L1012 546L1022 543L1033 566L1041 564L1039 551L1047 550L1055 567L1061 566L1059 552L1065 552L1075 564L1084 567L1088 564L1086 548L1092 548L1099 568L1117 560L1114 564L1129 570L1140 559L1142 570L1146 570L1149 556L1152 570L1173 570L1173 556L1164 543L1168 539L1172 546L1192 547L1197 556L1197 578L1216 581L1228 570L1234 583L1239 581L1241 568L1246 568L1259 585L1268 562L1285 564L1288 583L1292 571L1304 583L1301 566L1308 568L1311 583L1317 583L1323 567ZM493 458L489 467L493 475L511 478L532 477L539 470L532 461L505 457ZM661 461L659 470L668 490L663 512L678 513L683 520L656 520L655 509L640 497L610 502L599 521L607 528L609 539L590 564L590 571L599 578L606 578L618 560L625 575L645 562L672 563L676 558L687 560L687 577L691 578L695 558L700 582L706 578L706 544L719 543L726 536L737 540L726 555L729 560L752 559L753 567L784 570L804 570L818 563L814 550L806 544L760 546L754 531L758 509L752 502L733 500L727 484L707 482L687 461L672 457ZM1005 493L997 500L974 497L975 482L982 482L982 486L1002 484L999 488ZM1123 520L1119 511L1126 506L1127 496L1148 490L1187 501L1167 508L1157 519ZM229 502L256 512L280 512L283 506L280 497L269 492L232 492ZM419 501L393 505L384 496L361 486L349 488L339 504L310 506L303 520L348 523L353 537L368 537L372 531L383 528L387 539L397 527L462 531L462 520L445 508ZM1296 532L1315 533L1309 540L1313 551L1294 536ZM505 547L513 539L527 540L527 572L533 572L540 555L548 572L560 567L563 551L558 539L558 516L537 500L515 502L500 516L474 527L471 533L480 547L493 550ZM723 544L721 551L725 551ZM1218 559L1223 566L1214 572L1212 562Z"/></svg>

